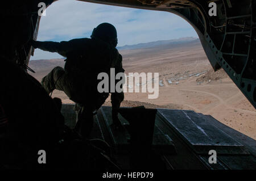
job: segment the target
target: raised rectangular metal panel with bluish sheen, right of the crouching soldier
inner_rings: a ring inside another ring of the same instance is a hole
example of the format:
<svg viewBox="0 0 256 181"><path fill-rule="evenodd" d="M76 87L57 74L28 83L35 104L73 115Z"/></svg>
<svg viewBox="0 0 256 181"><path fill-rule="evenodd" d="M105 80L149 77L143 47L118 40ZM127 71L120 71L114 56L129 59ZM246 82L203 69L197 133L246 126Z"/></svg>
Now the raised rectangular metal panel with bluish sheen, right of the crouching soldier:
<svg viewBox="0 0 256 181"><path fill-rule="evenodd" d="M183 110L158 112L198 154L208 154L209 150L219 154L249 154L240 142L211 124L207 116Z"/></svg>

